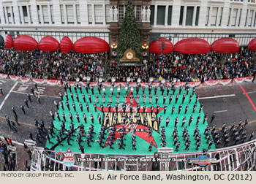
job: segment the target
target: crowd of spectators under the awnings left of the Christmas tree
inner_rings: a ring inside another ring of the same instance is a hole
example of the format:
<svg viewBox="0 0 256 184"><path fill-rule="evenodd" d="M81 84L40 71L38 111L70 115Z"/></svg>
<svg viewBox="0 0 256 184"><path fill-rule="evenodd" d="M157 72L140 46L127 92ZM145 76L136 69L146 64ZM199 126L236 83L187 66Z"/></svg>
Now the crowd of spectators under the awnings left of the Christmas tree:
<svg viewBox="0 0 256 184"><path fill-rule="evenodd" d="M105 53L83 54L39 50L21 52L0 49L0 73L49 80L75 80L76 77L99 77L99 66L105 64Z"/></svg>

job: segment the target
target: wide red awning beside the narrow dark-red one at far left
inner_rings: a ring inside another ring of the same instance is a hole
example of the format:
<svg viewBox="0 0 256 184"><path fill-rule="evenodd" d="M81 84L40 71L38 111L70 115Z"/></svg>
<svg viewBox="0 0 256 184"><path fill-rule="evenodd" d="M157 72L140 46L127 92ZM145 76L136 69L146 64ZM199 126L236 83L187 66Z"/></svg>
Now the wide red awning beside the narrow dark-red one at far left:
<svg viewBox="0 0 256 184"><path fill-rule="evenodd" d="M37 40L33 37L29 37L27 35L20 35L15 38L13 41L13 47L16 50L36 50L37 49Z"/></svg>

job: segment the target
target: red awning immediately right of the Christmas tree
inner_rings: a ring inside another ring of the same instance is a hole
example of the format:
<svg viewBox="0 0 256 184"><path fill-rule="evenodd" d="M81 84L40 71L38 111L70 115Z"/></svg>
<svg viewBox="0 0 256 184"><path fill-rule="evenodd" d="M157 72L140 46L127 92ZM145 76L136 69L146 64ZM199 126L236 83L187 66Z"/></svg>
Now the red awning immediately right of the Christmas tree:
<svg viewBox="0 0 256 184"><path fill-rule="evenodd" d="M150 53L162 53L162 42L165 42L165 48L163 54L171 53L173 52L173 44L168 39L160 37L158 42L155 39L151 44L149 45L149 52Z"/></svg>

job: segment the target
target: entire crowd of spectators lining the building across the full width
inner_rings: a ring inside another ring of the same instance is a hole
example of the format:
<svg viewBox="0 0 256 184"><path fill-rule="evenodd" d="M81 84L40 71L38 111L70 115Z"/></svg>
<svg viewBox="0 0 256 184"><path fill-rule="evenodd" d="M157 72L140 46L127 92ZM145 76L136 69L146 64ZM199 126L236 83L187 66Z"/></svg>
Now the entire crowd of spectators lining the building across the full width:
<svg viewBox="0 0 256 184"><path fill-rule="evenodd" d="M50 80L75 80L90 76L96 81L100 67L106 72L109 64L106 53L83 54L59 51L45 53L39 50L21 52L18 50L0 50L0 72L22 77L46 78ZM109 77L124 82L127 77L136 81L139 77L148 82L149 77L165 78L180 82L233 79L255 76L255 53L241 48L239 53L207 53L184 55L170 53L152 54L151 61L143 61L141 66L118 66L110 63ZM108 80L108 79L107 79Z"/></svg>

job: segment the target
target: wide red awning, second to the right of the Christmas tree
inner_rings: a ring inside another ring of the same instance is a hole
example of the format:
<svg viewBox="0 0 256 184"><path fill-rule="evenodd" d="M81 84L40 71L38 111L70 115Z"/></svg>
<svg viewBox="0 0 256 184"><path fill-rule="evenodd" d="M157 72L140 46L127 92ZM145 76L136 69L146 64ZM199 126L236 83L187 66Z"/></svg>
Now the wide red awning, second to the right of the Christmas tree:
<svg viewBox="0 0 256 184"><path fill-rule="evenodd" d="M204 39L188 38L177 42L174 51L184 54L204 54L211 51L211 45Z"/></svg>

